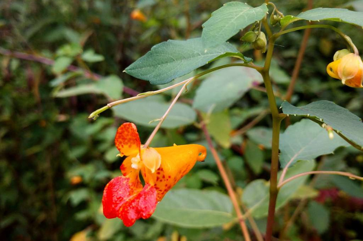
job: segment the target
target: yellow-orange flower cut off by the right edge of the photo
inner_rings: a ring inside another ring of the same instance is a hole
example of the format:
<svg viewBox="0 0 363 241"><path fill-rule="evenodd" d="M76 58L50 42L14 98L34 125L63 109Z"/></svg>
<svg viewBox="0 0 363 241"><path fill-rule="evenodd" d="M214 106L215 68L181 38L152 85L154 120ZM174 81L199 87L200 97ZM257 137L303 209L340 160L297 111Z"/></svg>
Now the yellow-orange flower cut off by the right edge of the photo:
<svg viewBox="0 0 363 241"><path fill-rule="evenodd" d="M333 78L341 80L343 85L362 88L363 62L358 54L348 50L339 50L334 55L334 62L326 67L326 72Z"/></svg>

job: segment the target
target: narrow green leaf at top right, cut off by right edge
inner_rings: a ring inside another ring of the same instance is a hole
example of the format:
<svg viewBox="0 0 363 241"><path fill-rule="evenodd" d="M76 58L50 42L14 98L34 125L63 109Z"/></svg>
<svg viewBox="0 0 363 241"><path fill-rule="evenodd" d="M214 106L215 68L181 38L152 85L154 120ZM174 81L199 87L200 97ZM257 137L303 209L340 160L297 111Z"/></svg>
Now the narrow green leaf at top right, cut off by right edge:
<svg viewBox="0 0 363 241"><path fill-rule="evenodd" d="M343 8L316 8L302 12L299 15L287 15L281 19L281 26L285 26L298 20L322 21L331 20L363 26L363 13L350 11Z"/></svg>

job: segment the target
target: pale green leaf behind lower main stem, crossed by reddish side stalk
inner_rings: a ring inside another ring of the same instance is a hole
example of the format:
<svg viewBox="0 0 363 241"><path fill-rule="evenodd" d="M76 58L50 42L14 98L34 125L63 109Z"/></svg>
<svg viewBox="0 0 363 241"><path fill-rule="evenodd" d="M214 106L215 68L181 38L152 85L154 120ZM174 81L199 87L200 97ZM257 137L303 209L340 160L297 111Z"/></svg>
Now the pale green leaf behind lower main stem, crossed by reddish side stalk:
<svg viewBox="0 0 363 241"><path fill-rule="evenodd" d="M285 178L289 178L303 172L312 171L314 168L315 162L313 160L302 160L287 170ZM281 172L279 172L279 175L280 174ZM281 187L277 196L276 210L281 208L288 202L288 200L293 198L299 187L305 183L307 177L307 175L298 177ZM245 188L242 196L242 202L247 206L249 211L252 213L252 216L260 218L267 216L268 198L269 182L263 179L257 179L253 180Z"/></svg>

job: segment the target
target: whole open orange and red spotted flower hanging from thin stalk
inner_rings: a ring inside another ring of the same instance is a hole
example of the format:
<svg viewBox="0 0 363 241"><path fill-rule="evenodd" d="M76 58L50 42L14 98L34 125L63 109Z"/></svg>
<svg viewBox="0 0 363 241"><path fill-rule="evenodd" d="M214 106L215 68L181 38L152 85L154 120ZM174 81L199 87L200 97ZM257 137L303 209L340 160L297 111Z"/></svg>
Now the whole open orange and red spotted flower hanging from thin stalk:
<svg viewBox="0 0 363 241"><path fill-rule="evenodd" d="M205 147L195 144L143 148L133 123L118 128L115 145L119 155L127 157L120 167L122 176L112 179L103 191L103 214L122 219L127 227L139 218L149 218L164 195L207 155Z"/></svg>

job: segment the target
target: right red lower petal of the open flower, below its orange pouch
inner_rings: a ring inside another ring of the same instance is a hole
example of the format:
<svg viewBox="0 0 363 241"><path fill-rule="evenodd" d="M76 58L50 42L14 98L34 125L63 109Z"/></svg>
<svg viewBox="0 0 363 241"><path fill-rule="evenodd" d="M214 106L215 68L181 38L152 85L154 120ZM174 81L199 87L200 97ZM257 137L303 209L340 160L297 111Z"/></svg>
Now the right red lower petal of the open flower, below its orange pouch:
<svg viewBox="0 0 363 241"><path fill-rule="evenodd" d="M126 227L130 227L137 219L149 218L154 213L156 204L156 190L154 186L146 184L141 192L122 205L118 217Z"/></svg>

